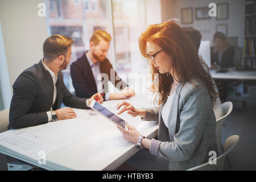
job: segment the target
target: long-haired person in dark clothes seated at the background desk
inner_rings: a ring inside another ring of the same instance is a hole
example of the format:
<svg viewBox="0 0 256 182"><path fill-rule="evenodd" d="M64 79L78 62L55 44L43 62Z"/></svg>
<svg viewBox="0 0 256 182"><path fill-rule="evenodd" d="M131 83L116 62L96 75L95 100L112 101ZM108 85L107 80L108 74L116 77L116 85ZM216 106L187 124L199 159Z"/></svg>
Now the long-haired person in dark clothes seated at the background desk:
<svg viewBox="0 0 256 182"><path fill-rule="evenodd" d="M229 68L233 67L234 48L229 45L228 39L222 32L216 32L213 35L213 45L210 49L211 68ZM220 70L219 70L220 71ZM221 102L228 98L229 81L215 79Z"/></svg>

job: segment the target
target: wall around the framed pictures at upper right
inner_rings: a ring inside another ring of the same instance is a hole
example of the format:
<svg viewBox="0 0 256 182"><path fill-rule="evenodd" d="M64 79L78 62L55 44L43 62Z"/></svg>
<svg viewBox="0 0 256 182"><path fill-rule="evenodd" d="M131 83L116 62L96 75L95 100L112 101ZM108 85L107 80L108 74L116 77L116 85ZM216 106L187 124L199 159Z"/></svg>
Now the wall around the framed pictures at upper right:
<svg viewBox="0 0 256 182"><path fill-rule="evenodd" d="M162 0L162 10L164 13L163 20L170 18L179 18L180 9L183 7L193 7L193 23L181 24L181 26L192 26L199 30L203 36L202 40L210 40L212 42L213 35L216 32L216 24L228 24L228 36L238 36L238 46L243 47L243 30L244 30L244 1L243 0ZM168 3L164 1L169 1ZM228 20L216 20L215 17L205 20L195 19L195 8L208 6L209 3L229 3Z"/></svg>

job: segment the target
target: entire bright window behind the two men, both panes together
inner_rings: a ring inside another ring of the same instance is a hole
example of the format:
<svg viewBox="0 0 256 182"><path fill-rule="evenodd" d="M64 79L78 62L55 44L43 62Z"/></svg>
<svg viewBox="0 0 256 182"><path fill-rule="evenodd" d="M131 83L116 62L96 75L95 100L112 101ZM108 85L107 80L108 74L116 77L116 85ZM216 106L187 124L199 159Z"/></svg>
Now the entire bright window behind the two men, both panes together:
<svg viewBox="0 0 256 182"><path fill-rule="evenodd" d="M117 73L142 72L138 38L146 27L144 1L45 0L49 35L61 34L74 40L72 63L89 49L90 36L100 28L114 34L107 57ZM109 10L110 5L113 12ZM73 92L71 63L63 76L65 85Z"/></svg>

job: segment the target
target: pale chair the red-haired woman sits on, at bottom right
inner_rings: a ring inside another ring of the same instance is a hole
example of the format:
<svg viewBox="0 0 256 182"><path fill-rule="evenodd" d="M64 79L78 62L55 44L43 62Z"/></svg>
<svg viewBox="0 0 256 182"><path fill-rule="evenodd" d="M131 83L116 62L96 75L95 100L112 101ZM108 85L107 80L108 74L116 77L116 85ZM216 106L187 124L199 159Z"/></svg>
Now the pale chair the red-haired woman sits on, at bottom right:
<svg viewBox="0 0 256 182"><path fill-rule="evenodd" d="M188 169L187 171L222 171L224 168L224 163L226 159L226 155L236 146L239 140L238 135L232 135L228 139L226 139L224 145L224 154L218 156L218 158L213 160L213 164L205 163L200 166L196 166ZM216 162L216 164L214 164Z"/></svg>

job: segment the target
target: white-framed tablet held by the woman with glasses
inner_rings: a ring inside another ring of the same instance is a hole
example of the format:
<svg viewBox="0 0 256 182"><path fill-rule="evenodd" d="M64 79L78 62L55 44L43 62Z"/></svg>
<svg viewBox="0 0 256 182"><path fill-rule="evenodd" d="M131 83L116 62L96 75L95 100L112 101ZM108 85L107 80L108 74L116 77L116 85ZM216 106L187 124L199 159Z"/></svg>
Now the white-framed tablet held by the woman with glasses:
<svg viewBox="0 0 256 182"><path fill-rule="evenodd" d="M90 103L90 107L93 110L98 111L98 113L103 115L105 118L109 119L109 121L113 122L119 128L125 131L129 131L126 126L126 122L122 118L119 118L116 114L114 114L112 111L98 103L96 100L92 100L92 102Z"/></svg>

